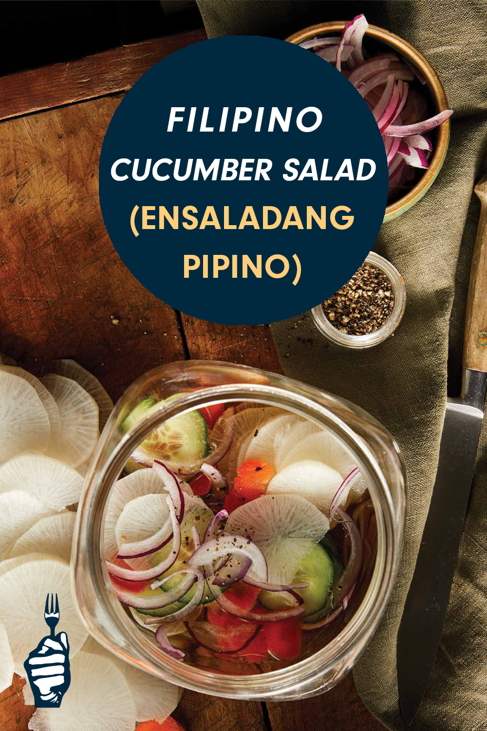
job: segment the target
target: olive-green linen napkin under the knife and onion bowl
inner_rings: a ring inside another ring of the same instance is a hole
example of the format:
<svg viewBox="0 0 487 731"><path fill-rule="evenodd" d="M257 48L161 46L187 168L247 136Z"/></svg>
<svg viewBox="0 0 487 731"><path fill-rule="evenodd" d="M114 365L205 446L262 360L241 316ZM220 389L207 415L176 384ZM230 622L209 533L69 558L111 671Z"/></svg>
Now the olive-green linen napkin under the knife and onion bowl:
<svg viewBox="0 0 487 731"><path fill-rule="evenodd" d="M395 336L367 351L348 352L329 347L309 314L272 325L288 376L367 409L404 451L409 503L402 563L386 614L354 670L372 713L390 729L404 731L396 634L437 469L447 360L451 392L459 394L464 309L480 211L472 190L487 166L487 2L204 0L199 9L210 37L283 38L312 23L348 20L364 12L369 23L421 50L455 110L450 148L437 181L410 211L383 225L375 245L402 273L407 288L406 311ZM442 642L413 731L487 729L486 538L484 429Z"/></svg>

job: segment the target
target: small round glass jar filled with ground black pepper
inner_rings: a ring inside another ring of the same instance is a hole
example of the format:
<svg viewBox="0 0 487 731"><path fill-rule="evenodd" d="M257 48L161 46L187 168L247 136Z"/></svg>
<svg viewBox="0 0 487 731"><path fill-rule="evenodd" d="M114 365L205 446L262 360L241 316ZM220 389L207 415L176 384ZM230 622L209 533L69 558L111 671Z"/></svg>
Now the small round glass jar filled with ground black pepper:
<svg viewBox="0 0 487 731"><path fill-rule="evenodd" d="M405 306L402 276L391 262L371 251L353 277L313 307L311 314L318 330L332 343L369 348L394 333Z"/></svg>

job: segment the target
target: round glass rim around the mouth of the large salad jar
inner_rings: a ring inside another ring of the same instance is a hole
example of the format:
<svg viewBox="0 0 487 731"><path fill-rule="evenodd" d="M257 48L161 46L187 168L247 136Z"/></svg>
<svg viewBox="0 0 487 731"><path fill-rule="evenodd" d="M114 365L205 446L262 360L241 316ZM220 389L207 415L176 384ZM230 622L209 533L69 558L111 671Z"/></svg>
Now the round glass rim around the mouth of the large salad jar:
<svg viewBox="0 0 487 731"><path fill-rule="evenodd" d="M227 363L193 362L191 366L231 366ZM185 366L190 366L186 363ZM191 368L190 366L190 368ZM164 368L164 367L163 367ZM241 368L240 366L238 368ZM248 371L256 371L264 374L264 371L244 367ZM161 369L157 369L161 370ZM350 651L358 651L372 633L383 614L388 596L390 595L394 581L397 564L397 553L401 545L394 536L395 511L391 494L388 491L386 478L369 447L358 434L342 421L337 414L329 408L318 404L310 398L311 393L322 393L327 398L333 397L325 392L319 392L312 387L304 387L299 382L287 379L285 376L265 374L272 379L278 379L281 386L232 383L229 385L217 385L204 387L201 390L193 391L178 398L172 403L164 404L144 417L137 425L134 425L123 436L115 449L110 453L110 459L101 470L96 484L91 480L88 488L83 494L83 514L80 520L79 531L84 531L86 539L86 557L88 558L89 575L93 583L93 590L104 612L115 623L121 644L137 654L137 659L127 657L123 651L120 652L104 640L103 635L91 626L86 618L85 624L91 634L101 642L107 649L120 654L132 664L143 667L145 670L158 675L165 680L182 685L186 688L199 692L218 694L223 697L270 697L282 694L283 687L296 687L296 683L306 683L310 678L318 678L327 671L337 666L337 663L346 661ZM137 382L136 382L137 384ZM136 385L134 384L134 385ZM134 387L132 385L132 387ZM289 385L291 389L286 389ZM296 393L296 390L302 393ZM156 648L150 642L147 635L141 632L123 609L122 605L112 591L109 591L110 578L107 568L104 565L103 556L103 526L104 510L110 496L112 485L118 478L120 470L129 458L134 447L148 436L160 423L176 415L183 414L205 405L217 404L222 401L256 401L256 403L279 404L291 412L311 418L321 425L325 425L337 436L337 439L358 459L358 466L364 471L369 486L372 487L372 499L375 501L375 514L377 518L377 557L372 579L367 592L358 606L356 613L344 629L325 645L321 650L302 659L289 667L279 670L272 670L268 673L258 675L229 675L215 673L173 660L164 651ZM343 406L346 402L337 399L337 403ZM354 407L355 408L355 407ZM370 418L370 417L369 417ZM96 473L100 453L97 451L89 476ZM87 478L88 479L88 478ZM91 518L91 520L88 518ZM79 539L79 531L76 536L76 545ZM402 537L401 537L402 538ZM74 561L74 586L77 584L77 564L80 557L77 555ZM389 558L389 560L387 560ZM76 594L76 592L74 592ZM78 610L80 607L78 605ZM106 621L107 617L105 618ZM156 662L156 672L153 663Z"/></svg>

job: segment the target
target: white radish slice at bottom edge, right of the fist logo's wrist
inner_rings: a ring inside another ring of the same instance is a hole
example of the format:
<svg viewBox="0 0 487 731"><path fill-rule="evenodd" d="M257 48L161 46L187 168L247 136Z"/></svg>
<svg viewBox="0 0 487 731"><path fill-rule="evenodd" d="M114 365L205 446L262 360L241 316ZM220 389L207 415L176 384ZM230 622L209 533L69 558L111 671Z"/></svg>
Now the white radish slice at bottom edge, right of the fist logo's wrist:
<svg viewBox="0 0 487 731"><path fill-rule="evenodd" d="M81 651L70 670L71 685L60 708L38 708L28 722L31 731L134 731L135 703L118 663Z"/></svg>

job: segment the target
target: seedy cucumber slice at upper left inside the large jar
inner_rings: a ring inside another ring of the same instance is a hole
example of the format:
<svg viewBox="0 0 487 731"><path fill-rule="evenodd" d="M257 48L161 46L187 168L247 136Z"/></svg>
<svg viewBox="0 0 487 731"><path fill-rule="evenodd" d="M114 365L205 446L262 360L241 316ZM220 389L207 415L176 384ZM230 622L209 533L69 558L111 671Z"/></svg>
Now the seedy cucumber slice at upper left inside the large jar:
<svg viewBox="0 0 487 731"><path fill-rule="evenodd" d="M165 404L180 398L175 393L164 400ZM123 420L121 428L129 430L143 417L161 406L154 396L149 396L137 404ZM204 458L210 453L207 423L196 409L188 414L173 417L161 424L156 431L137 447L126 471L131 472L140 466L150 467L155 459L164 462L173 471L196 471Z"/></svg>

